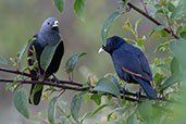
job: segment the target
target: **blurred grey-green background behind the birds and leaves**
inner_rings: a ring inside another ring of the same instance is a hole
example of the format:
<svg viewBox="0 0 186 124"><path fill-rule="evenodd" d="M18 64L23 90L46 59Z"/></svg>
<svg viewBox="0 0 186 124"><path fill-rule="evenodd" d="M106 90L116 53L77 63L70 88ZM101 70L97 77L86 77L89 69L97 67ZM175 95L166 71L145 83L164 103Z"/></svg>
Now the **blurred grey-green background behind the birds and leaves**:
<svg viewBox="0 0 186 124"><path fill-rule="evenodd" d="M140 3L132 0L133 3L140 8ZM87 0L86 1L86 22L80 22L73 12L74 0L66 0L63 14L58 12L52 0L1 0L0 1L0 55L9 60L5 67L15 69L10 58L16 57L16 53L24 44L36 33L38 33L42 22L53 16L60 22L61 36L64 39L65 53L61 63L61 67L57 74L60 79L67 79L64 65L67 58L78 51L87 51L87 55L83 57L75 69L75 80L85 82L90 75L97 78L103 77L107 73L114 73L113 64L106 52L98 54L101 44L101 27L106 18L119 7L116 0ZM113 23L109 36L119 35L121 37L134 38L132 33L122 28L124 22L131 18L133 24L140 17L135 11L125 13L116 22ZM142 18L139 23L139 36L147 36L154 25L147 18ZM158 38L147 37L145 42L145 54L149 63L156 57L163 53L154 53L156 46L160 44ZM26 65L26 57L22 62L22 66ZM2 66L2 65L0 65ZM15 77L0 72L0 77ZM32 123L25 120L14 108L12 102L12 92L4 89L5 85L0 85L0 124L27 124ZM27 85L27 88L29 85ZM28 90L29 92L29 90ZM65 91L61 96L63 101L70 103L74 91ZM32 114L47 109L48 102L41 101L38 107L30 106ZM91 107L91 108L90 108ZM92 110L95 103L88 102L82 107L80 112ZM98 114L99 115L99 114ZM98 116L97 115L97 116ZM59 115L57 115L58 119ZM107 116L107 114L106 114ZM104 114L95 119L95 123L107 122ZM94 119L89 119L94 120ZM89 121L87 121L89 122ZM88 123L87 123L88 124Z"/></svg>

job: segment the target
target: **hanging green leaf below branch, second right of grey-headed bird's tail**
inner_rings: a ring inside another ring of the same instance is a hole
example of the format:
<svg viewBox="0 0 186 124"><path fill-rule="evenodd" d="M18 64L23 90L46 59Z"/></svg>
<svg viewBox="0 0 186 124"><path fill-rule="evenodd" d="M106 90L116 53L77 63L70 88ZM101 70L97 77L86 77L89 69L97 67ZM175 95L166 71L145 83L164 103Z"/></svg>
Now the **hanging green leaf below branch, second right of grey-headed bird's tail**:
<svg viewBox="0 0 186 124"><path fill-rule="evenodd" d="M75 95L71 101L70 108L71 108L71 114L74 119L74 121L78 122L78 112L80 109L82 104L82 96L80 95Z"/></svg>

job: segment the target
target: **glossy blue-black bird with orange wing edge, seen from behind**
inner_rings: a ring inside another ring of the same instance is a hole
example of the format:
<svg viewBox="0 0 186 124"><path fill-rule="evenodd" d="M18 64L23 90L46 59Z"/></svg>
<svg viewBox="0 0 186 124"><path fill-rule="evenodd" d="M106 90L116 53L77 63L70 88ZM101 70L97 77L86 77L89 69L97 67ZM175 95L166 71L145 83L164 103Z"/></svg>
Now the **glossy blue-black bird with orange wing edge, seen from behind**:
<svg viewBox="0 0 186 124"><path fill-rule="evenodd" d="M139 84L150 99L156 99L157 94L151 86L152 73L142 51L126 42L119 36L107 39L106 46L99 52L108 52L113 61L117 76L126 83Z"/></svg>

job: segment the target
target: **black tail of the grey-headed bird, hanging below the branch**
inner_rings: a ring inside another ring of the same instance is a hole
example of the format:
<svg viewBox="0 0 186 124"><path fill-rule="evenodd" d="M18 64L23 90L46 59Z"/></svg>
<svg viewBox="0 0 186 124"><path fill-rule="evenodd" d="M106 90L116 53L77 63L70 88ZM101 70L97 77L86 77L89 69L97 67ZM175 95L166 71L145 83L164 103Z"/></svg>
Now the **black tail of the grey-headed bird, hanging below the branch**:
<svg viewBox="0 0 186 124"><path fill-rule="evenodd" d="M29 92L29 103L30 104L37 106L39 103L41 95L42 95L42 88L44 88L44 86L40 84L39 85L36 85L36 84L32 85L30 92Z"/></svg>

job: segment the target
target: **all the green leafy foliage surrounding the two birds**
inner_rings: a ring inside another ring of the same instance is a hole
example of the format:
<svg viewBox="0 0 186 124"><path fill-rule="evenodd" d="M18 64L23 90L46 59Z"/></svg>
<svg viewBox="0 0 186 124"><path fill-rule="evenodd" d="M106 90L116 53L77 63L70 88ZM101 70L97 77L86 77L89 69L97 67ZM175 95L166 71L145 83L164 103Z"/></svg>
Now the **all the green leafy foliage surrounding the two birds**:
<svg viewBox="0 0 186 124"><path fill-rule="evenodd" d="M129 5L129 0L119 0L121 4L119 4L117 11L114 11L104 22L101 29L101 38L102 44L106 44L106 39L108 37L109 28L112 23L117 20L122 15L125 15L125 9ZM124 2L125 3L124 3ZM60 12L64 10L65 0L53 0L54 5ZM127 18L124 25L121 25L121 28L128 30L134 35L134 39L128 39L124 37L126 41L132 42L134 46L140 48L145 52L145 41L146 37L160 37L164 39L164 41L157 46L157 51L162 51L166 54L165 58L157 58L153 63L151 63L151 70L153 73L153 84L156 86L156 90L158 94L158 100L148 100L140 99L139 102L127 101L126 99L121 99L123 96L121 94L121 84L123 84L115 74L106 74L110 76L106 76L99 79L96 83L92 83L89 78L85 80L83 85L84 88L89 88L89 90L83 90L76 94L70 103L71 113L67 114L64 109L66 108L66 103L64 101L60 101L61 106L58 104L58 97L53 97L51 99L51 95L58 91L54 87L49 87L48 92L45 94L45 97L48 97L50 100L48 106L48 121L51 124L54 124L55 121L55 108L61 112L60 121L58 120L58 124L83 124L86 117L92 117L97 115L99 112L103 111L104 108L110 108L110 112L107 114L108 122L111 120L115 122L115 124L169 124L174 123L174 120L184 122L182 117L183 104L186 102L185 98L185 83L186 80L186 26L185 26L185 0L144 0L145 7L149 7L148 14L145 13L145 16L150 16L152 18L157 17L159 20L165 18L164 24L156 25L147 36L139 36L138 25L142 22L142 18L138 18L135 21L135 24L131 22L133 18ZM132 8L132 5L129 5ZM124 11L124 12L123 12ZM74 12L82 20L85 21L85 0L75 0L74 2ZM152 20L149 20L152 21ZM152 21L153 22L153 21ZM163 21L162 21L163 22ZM175 37L177 36L177 37ZM28 40L23 49L17 53L15 59L11 59L15 65L22 60L22 57L30 41ZM55 50L55 46L52 48L46 48L45 52L41 55L41 66L47 70L51 57ZM73 73L76 62L86 52L77 52L69 58L66 61L66 73L70 75ZM0 57L0 63L7 64L7 60ZM37 66L37 64L36 64ZM35 67L36 67L35 66ZM27 70L28 66L24 69ZM17 67L20 69L20 67ZM29 119L27 96L23 88L20 85L16 85L16 79L13 85L9 85L8 89L16 90L14 92L13 101L16 110L23 114L26 119ZM70 77L72 80L73 77ZM96 86L91 86L91 84L96 84ZM182 86L182 87L181 87ZM20 88L20 89L17 89ZM36 92L36 91L35 91ZM79 116L79 111L83 109L80 107L83 102L83 97L85 96L85 103L87 101L94 101L98 106L98 109L95 111L86 112L82 117ZM101 99L108 98L107 103L104 103ZM134 98L134 97L132 97ZM48 99L48 100L49 100ZM164 99L164 100L163 100ZM181 104L177 104L175 101L179 101ZM174 113L176 112L176 114ZM185 116L184 116L185 117ZM72 121L73 119L73 121ZM176 122L179 123L179 122Z"/></svg>

